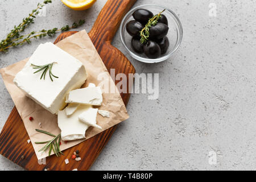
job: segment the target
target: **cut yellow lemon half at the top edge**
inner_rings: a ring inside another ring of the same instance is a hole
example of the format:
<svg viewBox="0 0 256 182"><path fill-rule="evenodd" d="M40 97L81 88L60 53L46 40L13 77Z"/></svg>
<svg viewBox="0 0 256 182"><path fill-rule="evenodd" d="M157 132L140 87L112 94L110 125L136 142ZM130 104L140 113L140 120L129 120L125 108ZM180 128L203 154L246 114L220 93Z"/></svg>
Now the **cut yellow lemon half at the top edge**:
<svg viewBox="0 0 256 182"><path fill-rule="evenodd" d="M97 0L61 0L64 5L70 7L73 10L86 10L90 8Z"/></svg>

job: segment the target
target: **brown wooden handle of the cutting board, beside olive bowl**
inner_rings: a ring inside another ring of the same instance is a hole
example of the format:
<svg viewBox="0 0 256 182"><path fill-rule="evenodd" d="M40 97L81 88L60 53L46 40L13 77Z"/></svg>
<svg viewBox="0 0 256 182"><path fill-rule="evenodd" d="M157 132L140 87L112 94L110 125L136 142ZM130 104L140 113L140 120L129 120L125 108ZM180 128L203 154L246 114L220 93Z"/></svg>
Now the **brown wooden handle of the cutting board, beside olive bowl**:
<svg viewBox="0 0 256 182"><path fill-rule="evenodd" d="M131 9L137 0L108 0L101 10L89 34L94 46L97 42L112 42L123 16Z"/></svg>

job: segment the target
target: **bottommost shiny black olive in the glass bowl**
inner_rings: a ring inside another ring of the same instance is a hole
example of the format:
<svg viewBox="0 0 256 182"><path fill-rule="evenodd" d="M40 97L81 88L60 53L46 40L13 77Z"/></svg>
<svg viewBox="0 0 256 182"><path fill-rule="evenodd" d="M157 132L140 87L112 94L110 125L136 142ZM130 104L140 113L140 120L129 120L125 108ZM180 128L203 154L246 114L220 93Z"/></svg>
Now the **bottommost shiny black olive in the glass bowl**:
<svg viewBox="0 0 256 182"><path fill-rule="evenodd" d="M147 57L151 59L158 58L161 54L161 49L158 45L158 43L148 40L146 44L143 46L144 53L147 55Z"/></svg>

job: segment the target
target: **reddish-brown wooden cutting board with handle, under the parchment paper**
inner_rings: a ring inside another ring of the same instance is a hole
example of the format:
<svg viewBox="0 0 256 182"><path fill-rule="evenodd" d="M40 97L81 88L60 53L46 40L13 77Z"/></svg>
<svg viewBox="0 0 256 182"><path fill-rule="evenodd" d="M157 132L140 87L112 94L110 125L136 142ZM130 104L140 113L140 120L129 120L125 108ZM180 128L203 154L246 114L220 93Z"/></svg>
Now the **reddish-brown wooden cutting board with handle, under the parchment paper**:
<svg viewBox="0 0 256 182"><path fill-rule="evenodd" d="M115 68L115 74L125 73L128 76L129 73L135 73L135 69L130 61L121 51L113 47L111 42L123 16L136 1L108 0L98 15L92 30L89 32L90 39L92 39L109 72L110 68ZM75 33L76 31L64 32L57 37L54 43ZM117 84L117 81L115 84ZM121 97L125 105L127 105L129 94L121 93ZM14 107L0 134L0 154L28 170L44 170L44 168L49 168L50 170L72 170L75 168L78 170L88 170L106 143L108 143L115 128L116 126L85 140L85 142L77 146L68 148L63 152L64 156L61 155L59 158L55 155L49 156L46 158L46 165L40 165L32 144L27 143L29 139L27 131L16 107ZM66 165L64 160L68 158L71 161L71 156L75 150L80 150L82 160ZM22 156L24 156L24 159Z"/></svg>

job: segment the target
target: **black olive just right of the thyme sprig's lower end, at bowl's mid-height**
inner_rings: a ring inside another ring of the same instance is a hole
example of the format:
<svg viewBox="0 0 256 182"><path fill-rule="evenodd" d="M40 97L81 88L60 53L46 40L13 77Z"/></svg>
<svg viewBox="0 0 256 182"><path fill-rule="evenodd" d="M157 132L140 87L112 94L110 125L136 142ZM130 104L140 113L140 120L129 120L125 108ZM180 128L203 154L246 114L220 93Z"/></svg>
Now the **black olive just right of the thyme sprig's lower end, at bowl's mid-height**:
<svg viewBox="0 0 256 182"><path fill-rule="evenodd" d="M155 26L150 27L150 38L161 39L167 35L169 27L163 23L156 23Z"/></svg>

